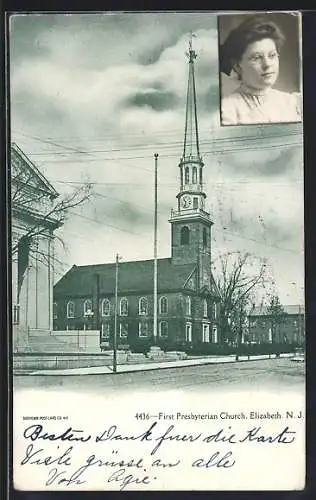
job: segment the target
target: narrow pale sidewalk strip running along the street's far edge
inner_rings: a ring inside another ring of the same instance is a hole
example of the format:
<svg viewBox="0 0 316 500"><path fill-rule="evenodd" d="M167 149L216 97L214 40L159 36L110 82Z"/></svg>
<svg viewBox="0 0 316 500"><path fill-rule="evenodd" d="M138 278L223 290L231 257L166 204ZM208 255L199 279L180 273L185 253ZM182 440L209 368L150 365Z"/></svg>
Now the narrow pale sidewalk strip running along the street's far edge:
<svg viewBox="0 0 316 500"><path fill-rule="evenodd" d="M280 357L290 358L294 354L280 354ZM270 359L275 358L275 354L271 354ZM137 364L125 364L117 366L117 373L128 373L128 372L139 372L148 370L161 370L167 368L181 368L185 366L198 366L198 365L209 365L209 364L222 364L222 363L238 363L243 361L255 361L259 359L269 359L269 355L260 356L239 356L238 361L236 361L235 355L230 356L207 356L204 358L195 359L183 359L178 361L160 361L157 363L137 363ZM61 375L110 375L113 374L112 366L95 366L88 368L70 368L65 370L36 370L28 372L15 372L15 375L49 375L49 376L61 376Z"/></svg>

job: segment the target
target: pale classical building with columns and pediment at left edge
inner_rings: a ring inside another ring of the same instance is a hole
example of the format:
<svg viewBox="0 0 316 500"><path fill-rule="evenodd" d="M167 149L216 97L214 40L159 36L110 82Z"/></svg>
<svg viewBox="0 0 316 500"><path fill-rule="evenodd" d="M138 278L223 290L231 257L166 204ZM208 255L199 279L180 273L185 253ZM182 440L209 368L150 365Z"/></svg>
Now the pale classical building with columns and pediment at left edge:
<svg viewBox="0 0 316 500"><path fill-rule="evenodd" d="M13 348L20 350L29 330L53 327L54 230L50 214L58 196L23 151L11 145Z"/></svg>

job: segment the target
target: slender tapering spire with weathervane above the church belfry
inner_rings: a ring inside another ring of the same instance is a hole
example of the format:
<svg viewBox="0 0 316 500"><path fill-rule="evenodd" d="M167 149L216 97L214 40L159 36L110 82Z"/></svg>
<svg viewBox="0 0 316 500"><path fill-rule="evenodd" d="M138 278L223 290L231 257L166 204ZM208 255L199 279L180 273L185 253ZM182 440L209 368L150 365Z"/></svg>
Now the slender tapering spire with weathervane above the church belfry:
<svg viewBox="0 0 316 500"><path fill-rule="evenodd" d="M195 37L195 35L191 32L189 40L189 51L186 52L186 56L189 60L189 76L185 113L183 160L189 158L194 160L201 160L194 75L194 60L197 58L197 54L193 49L193 37Z"/></svg>

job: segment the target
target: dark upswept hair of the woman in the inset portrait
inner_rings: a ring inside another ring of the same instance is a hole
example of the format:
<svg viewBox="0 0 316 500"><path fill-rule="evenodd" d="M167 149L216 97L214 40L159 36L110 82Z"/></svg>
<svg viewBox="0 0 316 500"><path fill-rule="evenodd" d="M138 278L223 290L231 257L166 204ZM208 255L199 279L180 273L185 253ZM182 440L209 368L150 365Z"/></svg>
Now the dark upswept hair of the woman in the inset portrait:
<svg viewBox="0 0 316 500"><path fill-rule="evenodd" d="M251 17L233 29L220 46L220 71L230 75L234 65L239 62L248 45L264 38L274 40L279 52L285 37L280 28L266 17Z"/></svg>

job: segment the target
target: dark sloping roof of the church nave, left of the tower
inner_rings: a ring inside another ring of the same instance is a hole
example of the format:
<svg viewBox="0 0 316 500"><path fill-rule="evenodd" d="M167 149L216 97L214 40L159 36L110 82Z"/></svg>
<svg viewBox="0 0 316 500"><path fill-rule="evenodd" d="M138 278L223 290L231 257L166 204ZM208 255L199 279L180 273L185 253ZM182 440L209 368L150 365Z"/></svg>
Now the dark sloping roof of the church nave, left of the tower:
<svg viewBox="0 0 316 500"><path fill-rule="evenodd" d="M174 265L171 258L158 259L158 292L183 288L196 268L196 264ZM54 286L56 298L92 295L99 274L100 295L114 295L115 263L73 266ZM119 295L151 293L154 287L154 260L119 263Z"/></svg>

